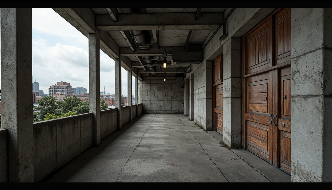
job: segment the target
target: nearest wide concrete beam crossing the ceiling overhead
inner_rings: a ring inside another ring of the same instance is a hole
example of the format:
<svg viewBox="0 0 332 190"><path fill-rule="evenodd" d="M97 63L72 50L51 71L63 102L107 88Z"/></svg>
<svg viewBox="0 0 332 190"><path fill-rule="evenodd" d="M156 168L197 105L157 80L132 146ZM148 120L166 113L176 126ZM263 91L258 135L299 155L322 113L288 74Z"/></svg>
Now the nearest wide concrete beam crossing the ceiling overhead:
<svg viewBox="0 0 332 190"><path fill-rule="evenodd" d="M136 13L118 14L118 22L113 22L109 14L96 15L96 26L107 30L211 30L223 21L223 13ZM179 19L181 18L181 19Z"/></svg>

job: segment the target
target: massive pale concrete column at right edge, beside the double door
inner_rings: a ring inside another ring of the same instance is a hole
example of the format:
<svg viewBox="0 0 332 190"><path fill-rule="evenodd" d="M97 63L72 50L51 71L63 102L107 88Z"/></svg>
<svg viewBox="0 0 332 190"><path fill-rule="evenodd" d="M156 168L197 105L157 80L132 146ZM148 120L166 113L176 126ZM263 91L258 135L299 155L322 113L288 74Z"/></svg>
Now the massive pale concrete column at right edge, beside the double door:
<svg viewBox="0 0 332 190"><path fill-rule="evenodd" d="M291 9L291 181L332 182L332 9Z"/></svg>

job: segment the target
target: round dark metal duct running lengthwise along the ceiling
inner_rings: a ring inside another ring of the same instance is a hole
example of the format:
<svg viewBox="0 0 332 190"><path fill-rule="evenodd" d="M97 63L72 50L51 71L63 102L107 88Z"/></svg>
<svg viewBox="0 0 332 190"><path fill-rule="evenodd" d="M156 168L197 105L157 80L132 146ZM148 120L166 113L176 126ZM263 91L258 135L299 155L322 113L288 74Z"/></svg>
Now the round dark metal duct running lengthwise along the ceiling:
<svg viewBox="0 0 332 190"><path fill-rule="evenodd" d="M132 8L117 8L119 13L131 13L132 12ZM142 44L140 46L137 46L138 49L140 50L148 50L151 48L150 45L143 45L146 44L146 37L145 37L145 31L142 30L130 30L129 31L130 35L134 38L136 44ZM151 60L151 56L142 56L146 65L151 65L148 66L149 70L151 72L155 72L156 68L154 66L152 66L152 60ZM157 73L150 73L151 75L157 75Z"/></svg>

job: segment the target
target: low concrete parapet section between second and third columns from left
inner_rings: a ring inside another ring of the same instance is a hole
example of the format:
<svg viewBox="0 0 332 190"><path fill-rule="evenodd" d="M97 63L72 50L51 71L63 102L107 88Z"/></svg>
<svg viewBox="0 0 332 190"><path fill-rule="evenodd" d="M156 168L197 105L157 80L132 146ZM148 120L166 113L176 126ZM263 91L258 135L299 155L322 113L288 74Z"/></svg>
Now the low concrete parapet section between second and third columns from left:
<svg viewBox="0 0 332 190"><path fill-rule="evenodd" d="M118 129L118 109L100 111L100 137L104 139Z"/></svg>

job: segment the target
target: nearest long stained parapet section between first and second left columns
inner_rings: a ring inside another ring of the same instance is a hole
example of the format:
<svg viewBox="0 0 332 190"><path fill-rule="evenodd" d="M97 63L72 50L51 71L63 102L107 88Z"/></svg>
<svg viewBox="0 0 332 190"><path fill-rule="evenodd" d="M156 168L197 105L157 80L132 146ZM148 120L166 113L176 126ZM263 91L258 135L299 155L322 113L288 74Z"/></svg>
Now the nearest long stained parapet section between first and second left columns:
<svg viewBox="0 0 332 190"><path fill-rule="evenodd" d="M35 182L92 146L92 113L34 123Z"/></svg>

